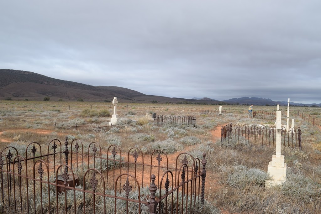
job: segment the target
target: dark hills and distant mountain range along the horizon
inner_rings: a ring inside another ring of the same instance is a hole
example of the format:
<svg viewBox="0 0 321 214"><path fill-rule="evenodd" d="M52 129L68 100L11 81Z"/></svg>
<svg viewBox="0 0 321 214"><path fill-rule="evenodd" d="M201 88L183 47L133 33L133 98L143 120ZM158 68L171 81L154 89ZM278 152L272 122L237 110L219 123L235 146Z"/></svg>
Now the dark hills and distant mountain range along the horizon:
<svg viewBox="0 0 321 214"><path fill-rule="evenodd" d="M181 103L181 104L219 104L219 105L271 105L287 106L287 101L273 101L271 99L242 97L228 100L216 100L212 98L169 98L162 96L146 95L135 90L117 86L92 86L82 83L65 81L47 77L38 73L0 69L0 99L11 98L13 100L50 100L75 101L82 98L84 101L111 101L117 97L120 102L151 103ZM302 104L290 102L297 106L320 106L321 104Z"/></svg>

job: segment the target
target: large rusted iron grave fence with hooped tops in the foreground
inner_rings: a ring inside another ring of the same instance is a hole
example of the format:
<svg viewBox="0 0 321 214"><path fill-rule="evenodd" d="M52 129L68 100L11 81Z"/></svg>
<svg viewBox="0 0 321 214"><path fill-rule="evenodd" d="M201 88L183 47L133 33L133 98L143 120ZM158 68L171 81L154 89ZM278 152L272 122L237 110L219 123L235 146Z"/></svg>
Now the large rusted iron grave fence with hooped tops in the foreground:
<svg viewBox="0 0 321 214"><path fill-rule="evenodd" d="M6 147L0 152L0 211L200 213L205 157L183 152L175 166L169 166L161 150L144 157L138 148L124 154L111 145L102 151L97 142L84 148L81 141L69 143L67 137L63 143L50 141L46 148L32 142L24 154Z"/></svg>

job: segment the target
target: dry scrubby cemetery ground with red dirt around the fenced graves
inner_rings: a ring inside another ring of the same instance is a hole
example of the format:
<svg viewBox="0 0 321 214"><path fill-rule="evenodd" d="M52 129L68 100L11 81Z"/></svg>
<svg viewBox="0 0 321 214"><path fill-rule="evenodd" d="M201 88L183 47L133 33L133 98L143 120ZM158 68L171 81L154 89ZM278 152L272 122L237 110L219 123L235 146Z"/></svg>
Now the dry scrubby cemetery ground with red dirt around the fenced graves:
<svg viewBox="0 0 321 214"><path fill-rule="evenodd" d="M0 101L0 149L11 145L24 154L30 142L48 145L53 139L79 139L85 148L98 142L115 144L123 151L138 147L146 156L164 150L169 159L181 152L202 159L206 153L205 205L208 213L320 213L321 129L297 116L298 111L321 117L321 108L290 107L290 121L302 130L302 151L282 147L288 166L282 186L264 187L268 163L275 147L247 143L221 143L221 126L226 124L273 125L275 120L247 118L247 106L223 106L220 116L200 114L218 110L215 105L118 103L117 113L126 121L108 126L113 112L110 103L58 101ZM254 106L256 111L275 112L276 106ZM281 111L287 107L280 107ZM154 126L152 114L196 116L196 125ZM286 124L286 114L282 125ZM77 129L75 125L77 124ZM290 122L291 124L291 122ZM79 126L89 126L79 127ZM291 126L291 125L290 125ZM169 164L174 164L171 159ZM259 169L259 170L257 170ZM216 208L218 209L216 209Z"/></svg>

